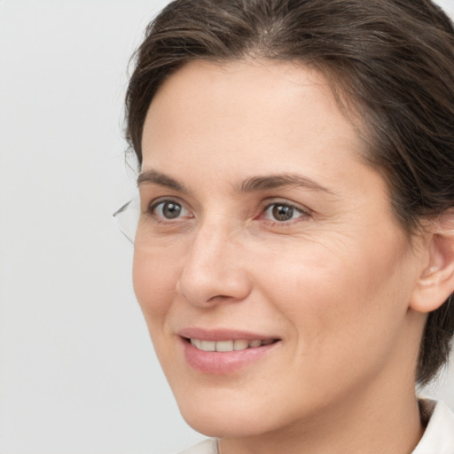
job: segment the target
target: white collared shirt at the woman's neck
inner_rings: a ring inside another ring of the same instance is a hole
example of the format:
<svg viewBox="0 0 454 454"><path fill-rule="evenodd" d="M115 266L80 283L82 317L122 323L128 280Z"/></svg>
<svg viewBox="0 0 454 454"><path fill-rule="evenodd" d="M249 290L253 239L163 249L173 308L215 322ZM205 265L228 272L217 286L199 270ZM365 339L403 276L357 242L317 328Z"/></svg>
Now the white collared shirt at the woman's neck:
<svg viewBox="0 0 454 454"><path fill-rule="evenodd" d="M215 438L209 438L180 454L219 454L217 443ZM454 454L454 413L445 403L434 406L426 431L412 454Z"/></svg>

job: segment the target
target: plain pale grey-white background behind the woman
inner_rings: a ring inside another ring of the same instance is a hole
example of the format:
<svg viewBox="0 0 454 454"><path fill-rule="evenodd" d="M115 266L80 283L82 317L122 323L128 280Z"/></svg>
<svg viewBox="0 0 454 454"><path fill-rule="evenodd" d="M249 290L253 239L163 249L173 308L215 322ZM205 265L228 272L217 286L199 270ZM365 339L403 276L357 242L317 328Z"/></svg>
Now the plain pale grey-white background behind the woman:
<svg viewBox="0 0 454 454"><path fill-rule="evenodd" d="M126 67L165 3L0 0L0 454L167 454L201 438L111 218L134 187ZM454 407L449 373L431 393Z"/></svg>

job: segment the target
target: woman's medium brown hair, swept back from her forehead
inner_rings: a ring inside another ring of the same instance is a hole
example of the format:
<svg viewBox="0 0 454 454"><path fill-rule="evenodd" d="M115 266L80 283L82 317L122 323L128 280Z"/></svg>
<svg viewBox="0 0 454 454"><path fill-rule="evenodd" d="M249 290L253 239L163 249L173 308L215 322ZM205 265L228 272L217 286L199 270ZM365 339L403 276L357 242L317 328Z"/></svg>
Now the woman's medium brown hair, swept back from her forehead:
<svg viewBox="0 0 454 454"><path fill-rule="evenodd" d="M411 239L454 206L454 28L430 0L176 0L146 28L126 97L142 162L145 115L162 82L194 59L300 62L325 74L363 124L365 160L387 180ZM347 109L345 109L347 105ZM380 239L377 239L380 240ZM417 380L450 352L454 301L428 315Z"/></svg>

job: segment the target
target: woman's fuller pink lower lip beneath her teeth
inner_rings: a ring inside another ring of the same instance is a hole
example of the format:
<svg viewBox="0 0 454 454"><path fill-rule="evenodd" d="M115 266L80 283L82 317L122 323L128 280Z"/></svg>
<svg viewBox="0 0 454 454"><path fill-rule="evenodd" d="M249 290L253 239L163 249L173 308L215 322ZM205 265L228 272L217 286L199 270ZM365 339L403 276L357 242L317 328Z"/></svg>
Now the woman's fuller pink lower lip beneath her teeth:
<svg viewBox="0 0 454 454"><path fill-rule="evenodd" d="M277 348L280 344L280 341L278 341L262 347L216 352L200 350L183 338L182 341L186 362L196 371L215 375L239 371L267 356L271 350Z"/></svg>

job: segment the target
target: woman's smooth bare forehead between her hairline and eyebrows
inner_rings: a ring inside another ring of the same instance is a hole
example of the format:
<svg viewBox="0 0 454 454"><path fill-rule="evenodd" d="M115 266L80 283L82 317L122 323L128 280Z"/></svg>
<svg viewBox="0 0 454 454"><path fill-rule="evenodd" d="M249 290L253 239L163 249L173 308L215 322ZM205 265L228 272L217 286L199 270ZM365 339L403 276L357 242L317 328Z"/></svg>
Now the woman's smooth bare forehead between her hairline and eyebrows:
<svg viewBox="0 0 454 454"><path fill-rule="evenodd" d="M291 62L244 60L193 61L169 76L146 115L142 145L146 168L164 155L197 159L205 148L218 159L238 153L242 162L256 160L255 152L265 159L301 148L321 159L330 143L337 159L341 150L364 148L323 74Z"/></svg>

